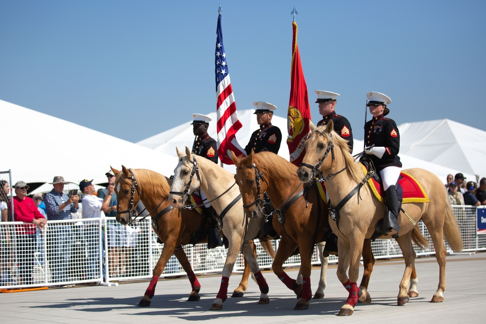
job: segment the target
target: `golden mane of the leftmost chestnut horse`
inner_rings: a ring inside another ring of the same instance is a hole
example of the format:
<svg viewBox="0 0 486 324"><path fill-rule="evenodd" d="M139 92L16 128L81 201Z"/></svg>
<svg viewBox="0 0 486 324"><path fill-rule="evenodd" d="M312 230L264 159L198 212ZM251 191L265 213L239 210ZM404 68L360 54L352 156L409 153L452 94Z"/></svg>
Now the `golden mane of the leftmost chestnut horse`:
<svg viewBox="0 0 486 324"><path fill-rule="evenodd" d="M142 196L147 193L152 193L154 197L168 197L171 190L171 184L169 179L164 175L157 173L156 171L147 169L128 169L132 171L135 180L141 187ZM132 179L127 178L123 171L120 171L116 177L117 181L125 181L128 184L132 184ZM142 185L143 184L143 185ZM142 187L143 186L143 187Z"/></svg>

